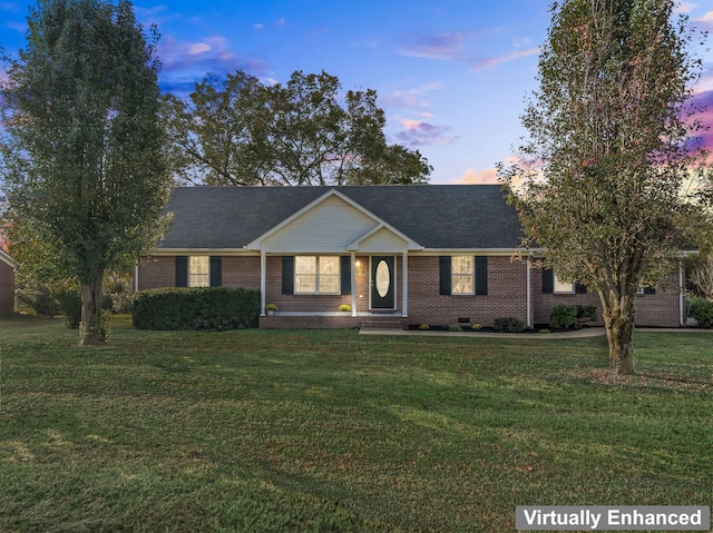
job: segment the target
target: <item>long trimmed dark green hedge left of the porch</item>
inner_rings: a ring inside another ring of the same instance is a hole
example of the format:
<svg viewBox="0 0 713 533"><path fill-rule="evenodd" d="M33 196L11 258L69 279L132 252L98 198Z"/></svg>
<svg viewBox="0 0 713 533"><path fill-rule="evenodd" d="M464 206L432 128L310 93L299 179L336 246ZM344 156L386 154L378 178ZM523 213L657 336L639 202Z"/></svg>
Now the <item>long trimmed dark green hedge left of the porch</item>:
<svg viewBox="0 0 713 533"><path fill-rule="evenodd" d="M228 287L150 289L137 294L133 314L137 329L257 327L260 290Z"/></svg>

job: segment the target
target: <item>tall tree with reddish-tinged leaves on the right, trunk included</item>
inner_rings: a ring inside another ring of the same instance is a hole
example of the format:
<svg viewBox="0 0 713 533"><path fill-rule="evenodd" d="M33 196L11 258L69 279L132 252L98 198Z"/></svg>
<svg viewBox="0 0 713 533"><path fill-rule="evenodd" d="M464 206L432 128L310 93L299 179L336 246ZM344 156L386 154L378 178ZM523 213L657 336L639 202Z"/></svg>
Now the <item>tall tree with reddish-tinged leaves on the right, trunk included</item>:
<svg viewBox="0 0 713 533"><path fill-rule="evenodd" d="M528 245L565 280L596 290L611 371L634 373L636 292L672 266L684 220L711 228L686 194L707 172L690 142L700 61L673 0L565 0L522 116L520 164L501 168ZM514 185L518 177L521 186Z"/></svg>

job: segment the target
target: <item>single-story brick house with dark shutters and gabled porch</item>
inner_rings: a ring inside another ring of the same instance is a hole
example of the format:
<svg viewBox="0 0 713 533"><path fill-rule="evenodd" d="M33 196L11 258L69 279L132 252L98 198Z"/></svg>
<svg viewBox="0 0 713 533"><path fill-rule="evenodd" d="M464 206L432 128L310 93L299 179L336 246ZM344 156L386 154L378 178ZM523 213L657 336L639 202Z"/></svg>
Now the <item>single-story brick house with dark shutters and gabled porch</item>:
<svg viewBox="0 0 713 533"><path fill-rule="evenodd" d="M500 187L189 187L173 225L136 268L138 289L262 290L261 327L547 324L596 294L537 268ZM541 254L541 250L539 250ZM682 276L641 292L637 324L683 324ZM265 304L279 312L265 316ZM351 312L339 312L340 305Z"/></svg>

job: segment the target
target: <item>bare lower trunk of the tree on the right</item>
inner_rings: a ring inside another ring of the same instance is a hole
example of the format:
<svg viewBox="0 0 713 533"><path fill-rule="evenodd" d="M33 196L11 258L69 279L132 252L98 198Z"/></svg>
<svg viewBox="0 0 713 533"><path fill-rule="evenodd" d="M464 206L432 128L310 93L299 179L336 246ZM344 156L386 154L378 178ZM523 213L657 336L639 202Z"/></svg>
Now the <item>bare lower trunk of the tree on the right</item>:
<svg viewBox="0 0 713 533"><path fill-rule="evenodd" d="M604 325L609 342L609 372L619 376L634 374L634 324L636 292L600 290Z"/></svg>

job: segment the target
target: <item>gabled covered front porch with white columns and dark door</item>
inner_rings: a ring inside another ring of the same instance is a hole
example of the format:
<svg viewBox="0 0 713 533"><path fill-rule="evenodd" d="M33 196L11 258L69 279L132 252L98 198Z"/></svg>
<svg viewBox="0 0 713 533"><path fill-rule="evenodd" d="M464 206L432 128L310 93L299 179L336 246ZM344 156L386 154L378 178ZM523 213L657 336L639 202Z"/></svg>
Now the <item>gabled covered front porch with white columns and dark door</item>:
<svg viewBox="0 0 713 533"><path fill-rule="evenodd" d="M261 257L260 327L408 323L409 251L422 246L335 190L246 248Z"/></svg>

